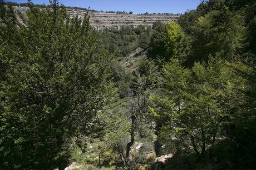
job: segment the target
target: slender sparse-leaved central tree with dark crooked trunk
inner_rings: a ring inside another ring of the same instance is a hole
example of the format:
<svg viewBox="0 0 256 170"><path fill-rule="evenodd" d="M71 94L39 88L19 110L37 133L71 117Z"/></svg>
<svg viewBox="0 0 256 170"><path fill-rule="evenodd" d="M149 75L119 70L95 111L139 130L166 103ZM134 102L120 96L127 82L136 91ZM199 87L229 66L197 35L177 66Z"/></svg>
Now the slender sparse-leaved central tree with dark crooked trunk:
<svg viewBox="0 0 256 170"><path fill-rule="evenodd" d="M142 60L134 72L134 79L130 87L130 136L131 140L126 145L126 165L130 166L130 150L135 142L136 127L145 119L147 107L149 106L148 95L157 83L157 67L154 62L147 59Z"/></svg>

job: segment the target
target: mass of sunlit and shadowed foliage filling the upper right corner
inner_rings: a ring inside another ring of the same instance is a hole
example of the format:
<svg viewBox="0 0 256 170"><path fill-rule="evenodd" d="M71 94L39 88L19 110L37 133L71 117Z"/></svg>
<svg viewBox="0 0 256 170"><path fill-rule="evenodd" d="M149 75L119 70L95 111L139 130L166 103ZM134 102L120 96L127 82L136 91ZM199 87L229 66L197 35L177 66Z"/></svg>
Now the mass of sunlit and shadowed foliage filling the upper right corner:
<svg viewBox="0 0 256 170"><path fill-rule="evenodd" d="M250 0L211 0L185 12L179 23L193 40L186 65L207 61L210 55L232 59L244 51L255 53L254 9L255 3Z"/></svg>

